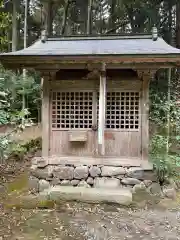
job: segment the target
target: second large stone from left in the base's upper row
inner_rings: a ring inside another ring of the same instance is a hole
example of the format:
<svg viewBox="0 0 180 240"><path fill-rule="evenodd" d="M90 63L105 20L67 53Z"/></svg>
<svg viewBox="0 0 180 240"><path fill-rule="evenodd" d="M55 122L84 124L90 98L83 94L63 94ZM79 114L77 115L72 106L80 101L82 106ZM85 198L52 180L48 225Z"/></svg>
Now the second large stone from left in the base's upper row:
<svg viewBox="0 0 180 240"><path fill-rule="evenodd" d="M62 180L72 180L74 178L74 168L67 166L55 167L53 176Z"/></svg>

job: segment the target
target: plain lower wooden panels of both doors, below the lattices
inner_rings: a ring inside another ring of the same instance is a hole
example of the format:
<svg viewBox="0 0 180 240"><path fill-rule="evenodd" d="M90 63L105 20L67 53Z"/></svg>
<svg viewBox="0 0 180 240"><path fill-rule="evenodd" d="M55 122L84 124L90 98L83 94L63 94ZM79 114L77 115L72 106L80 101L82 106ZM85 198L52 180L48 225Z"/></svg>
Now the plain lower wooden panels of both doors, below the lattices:
<svg viewBox="0 0 180 240"><path fill-rule="evenodd" d="M80 130L76 130L80 132ZM110 136L110 137L107 137ZM141 156L141 130L121 131L105 130L105 156L137 157ZM68 130L51 131L50 156L74 155L74 156L97 156L97 131L87 131L87 141L83 144L69 142Z"/></svg>

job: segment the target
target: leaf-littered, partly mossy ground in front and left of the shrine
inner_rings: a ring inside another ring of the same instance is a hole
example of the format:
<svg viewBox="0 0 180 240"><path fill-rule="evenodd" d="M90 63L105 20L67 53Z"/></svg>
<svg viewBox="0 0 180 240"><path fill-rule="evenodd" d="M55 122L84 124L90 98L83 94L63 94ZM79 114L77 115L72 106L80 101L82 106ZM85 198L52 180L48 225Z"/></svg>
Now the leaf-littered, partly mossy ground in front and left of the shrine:
<svg viewBox="0 0 180 240"><path fill-rule="evenodd" d="M0 168L0 240L178 240L180 204L139 209L62 203L55 209L7 208L26 189L30 160Z"/></svg>

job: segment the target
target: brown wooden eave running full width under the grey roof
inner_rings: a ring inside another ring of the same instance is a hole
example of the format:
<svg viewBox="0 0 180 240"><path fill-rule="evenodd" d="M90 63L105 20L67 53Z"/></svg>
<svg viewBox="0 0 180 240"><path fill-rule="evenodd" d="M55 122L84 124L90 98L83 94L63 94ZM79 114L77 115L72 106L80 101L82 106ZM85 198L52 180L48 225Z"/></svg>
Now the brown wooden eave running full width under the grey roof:
<svg viewBox="0 0 180 240"><path fill-rule="evenodd" d="M151 54L151 55L83 55L83 56L54 56L54 55L1 55L1 63L8 68L38 68L42 64L46 67L53 64L101 63L107 64L170 64L180 66L180 54Z"/></svg>

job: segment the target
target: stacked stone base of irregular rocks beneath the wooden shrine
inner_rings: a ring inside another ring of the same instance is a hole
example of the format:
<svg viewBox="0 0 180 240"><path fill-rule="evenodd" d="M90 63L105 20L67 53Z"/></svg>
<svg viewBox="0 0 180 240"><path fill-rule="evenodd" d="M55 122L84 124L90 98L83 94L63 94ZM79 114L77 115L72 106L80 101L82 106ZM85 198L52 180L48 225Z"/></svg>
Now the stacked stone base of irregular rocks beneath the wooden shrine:
<svg viewBox="0 0 180 240"><path fill-rule="evenodd" d="M102 165L49 165L42 162L31 167L30 190L41 192L51 186L87 188L149 188L156 182L153 171L140 167L114 167Z"/></svg>

